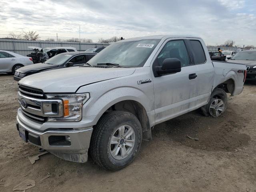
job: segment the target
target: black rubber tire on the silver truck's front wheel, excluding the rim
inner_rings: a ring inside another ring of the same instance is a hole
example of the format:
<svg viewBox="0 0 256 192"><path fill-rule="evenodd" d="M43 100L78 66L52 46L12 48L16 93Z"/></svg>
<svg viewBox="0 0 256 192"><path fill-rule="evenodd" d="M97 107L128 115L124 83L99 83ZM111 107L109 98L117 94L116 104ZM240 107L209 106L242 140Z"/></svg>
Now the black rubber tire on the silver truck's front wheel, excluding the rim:
<svg viewBox="0 0 256 192"><path fill-rule="evenodd" d="M134 130L135 142L128 156L122 160L117 160L110 152L110 140L118 128L123 125L128 125ZM125 111L109 112L102 116L96 126L94 126L90 141L90 155L102 168L111 171L120 170L134 160L140 150L141 142L142 127L136 116Z"/></svg>

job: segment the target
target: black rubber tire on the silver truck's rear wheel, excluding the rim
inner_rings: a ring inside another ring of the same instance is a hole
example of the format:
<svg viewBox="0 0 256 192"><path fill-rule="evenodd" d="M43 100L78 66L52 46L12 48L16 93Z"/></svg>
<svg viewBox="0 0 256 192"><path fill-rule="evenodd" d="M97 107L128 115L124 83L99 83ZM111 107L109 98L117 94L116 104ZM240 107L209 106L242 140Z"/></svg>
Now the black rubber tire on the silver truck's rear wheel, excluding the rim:
<svg viewBox="0 0 256 192"><path fill-rule="evenodd" d="M212 109L210 109L211 104L216 99L222 100L222 102L223 102L223 110L218 116L222 115L225 112L225 110L227 108L227 104L228 104L228 97L227 97L226 92L223 89L217 88L217 89L213 90L208 104L201 107L202 114L204 116L218 117L218 116L214 116L211 111Z"/></svg>

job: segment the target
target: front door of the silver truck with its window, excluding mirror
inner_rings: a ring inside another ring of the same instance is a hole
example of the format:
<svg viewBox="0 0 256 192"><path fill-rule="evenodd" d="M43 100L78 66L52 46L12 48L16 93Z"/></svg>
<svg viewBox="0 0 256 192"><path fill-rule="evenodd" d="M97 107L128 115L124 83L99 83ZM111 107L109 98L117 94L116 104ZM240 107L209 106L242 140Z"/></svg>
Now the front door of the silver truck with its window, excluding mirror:
<svg viewBox="0 0 256 192"><path fill-rule="evenodd" d="M162 66L164 59L178 58L181 71L163 76L156 76L155 66ZM152 64L154 83L155 123L159 124L196 106L197 66L191 65L190 56L183 39L166 40L158 50Z"/></svg>

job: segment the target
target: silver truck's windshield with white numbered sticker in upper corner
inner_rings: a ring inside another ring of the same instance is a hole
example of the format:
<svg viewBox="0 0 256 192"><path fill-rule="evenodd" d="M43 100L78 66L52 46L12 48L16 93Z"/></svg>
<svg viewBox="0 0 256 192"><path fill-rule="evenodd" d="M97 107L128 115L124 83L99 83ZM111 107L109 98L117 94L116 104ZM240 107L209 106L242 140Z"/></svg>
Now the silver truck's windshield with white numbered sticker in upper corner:
<svg viewBox="0 0 256 192"><path fill-rule="evenodd" d="M115 42L94 56L88 63L92 66L112 63L122 67L142 67L159 42L160 39Z"/></svg>

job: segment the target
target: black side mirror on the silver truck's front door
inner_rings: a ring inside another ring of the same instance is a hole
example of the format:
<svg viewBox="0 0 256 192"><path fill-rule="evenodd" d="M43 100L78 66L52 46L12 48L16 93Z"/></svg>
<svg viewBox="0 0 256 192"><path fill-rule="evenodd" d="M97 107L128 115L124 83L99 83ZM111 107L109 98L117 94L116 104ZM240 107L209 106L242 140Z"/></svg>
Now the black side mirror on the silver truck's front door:
<svg viewBox="0 0 256 192"><path fill-rule="evenodd" d="M158 75L177 73L181 71L181 63L177 58L167 58L164 60L163 65L156 66L155 70Z"/></svg>

